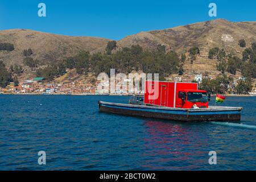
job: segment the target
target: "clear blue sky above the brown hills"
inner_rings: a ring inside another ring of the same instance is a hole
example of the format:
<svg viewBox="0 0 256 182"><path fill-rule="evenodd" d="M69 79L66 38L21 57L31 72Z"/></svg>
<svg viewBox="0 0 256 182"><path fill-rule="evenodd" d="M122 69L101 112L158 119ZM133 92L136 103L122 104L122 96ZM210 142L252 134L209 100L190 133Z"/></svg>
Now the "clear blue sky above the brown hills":
<svg viewBox="0 0 256 182"><path fill-rule="evenodd" d="M40 2L46 4L46 17L38 16ZM0 30L26 28L119 40L141 31L216 19L208 15L210 2L217 5L216 18L256 21L254 0L1 0Z"/></svg>

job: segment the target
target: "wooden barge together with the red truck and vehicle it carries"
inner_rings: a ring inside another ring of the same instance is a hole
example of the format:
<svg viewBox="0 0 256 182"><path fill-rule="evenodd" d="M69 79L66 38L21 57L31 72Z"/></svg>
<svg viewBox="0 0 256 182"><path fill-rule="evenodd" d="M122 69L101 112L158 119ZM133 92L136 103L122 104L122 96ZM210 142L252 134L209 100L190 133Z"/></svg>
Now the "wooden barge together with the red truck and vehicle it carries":
<svg viewBox="0 0 256 182"><path fill-rule="evenodd" d="M209 106L210 94L197 83L145 81L144 97L130 104L98 102L100 111L174 121L240 121L242 107Z"/></svg>

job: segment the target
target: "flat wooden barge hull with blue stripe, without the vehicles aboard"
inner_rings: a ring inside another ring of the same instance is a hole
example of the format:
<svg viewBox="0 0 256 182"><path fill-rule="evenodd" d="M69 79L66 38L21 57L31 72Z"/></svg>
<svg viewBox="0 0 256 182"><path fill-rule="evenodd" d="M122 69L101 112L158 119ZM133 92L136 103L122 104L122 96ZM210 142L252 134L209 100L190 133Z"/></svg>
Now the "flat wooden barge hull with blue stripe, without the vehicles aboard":
<svg viewBox="0 0 256 182"><path fill-rule="evenodd" d="M100 111L172 121L240 121L242 107L209 106L186 109L163 106L118 104L98 101Z"/></svg>

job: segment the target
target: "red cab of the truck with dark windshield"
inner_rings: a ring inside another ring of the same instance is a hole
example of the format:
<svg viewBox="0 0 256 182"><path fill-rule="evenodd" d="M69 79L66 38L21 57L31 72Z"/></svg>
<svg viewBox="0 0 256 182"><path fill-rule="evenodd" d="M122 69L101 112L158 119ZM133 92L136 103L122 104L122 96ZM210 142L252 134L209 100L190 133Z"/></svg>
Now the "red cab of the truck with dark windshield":
<svg viewBox="0 0 256 182"><path fill-rule="evenodd" d="M176 95L176 107L208 108L209 99L205 90L179 90Z"/></svg>

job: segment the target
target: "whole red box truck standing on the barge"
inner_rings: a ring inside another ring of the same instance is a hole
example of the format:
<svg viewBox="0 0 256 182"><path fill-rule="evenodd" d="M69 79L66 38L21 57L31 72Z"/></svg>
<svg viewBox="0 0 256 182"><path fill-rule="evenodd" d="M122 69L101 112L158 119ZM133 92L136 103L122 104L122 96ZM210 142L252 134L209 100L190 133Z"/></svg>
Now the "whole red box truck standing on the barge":
<svg viewBox="0 0 256 182"><path fill-rule="evenodd" d="M144 104L180 108L208 108L209 95L197 83L146 81Z"/></svg>

